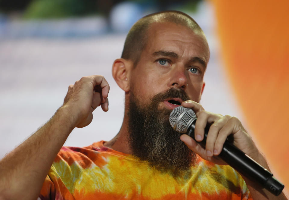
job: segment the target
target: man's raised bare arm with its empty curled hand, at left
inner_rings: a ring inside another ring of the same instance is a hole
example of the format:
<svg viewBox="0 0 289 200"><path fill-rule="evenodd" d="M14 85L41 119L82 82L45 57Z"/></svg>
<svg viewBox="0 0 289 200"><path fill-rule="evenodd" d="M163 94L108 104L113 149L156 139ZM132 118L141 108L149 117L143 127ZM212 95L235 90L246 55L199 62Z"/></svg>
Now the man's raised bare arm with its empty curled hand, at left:
<svg viewBox="0 0 289 200"><path fill-rule="evenodd" d="M103 76L82 77L69 86L64 104L51 119L0 161L0 199L36 199L57 153L75 127L108 110L109 85Z"/></svg>

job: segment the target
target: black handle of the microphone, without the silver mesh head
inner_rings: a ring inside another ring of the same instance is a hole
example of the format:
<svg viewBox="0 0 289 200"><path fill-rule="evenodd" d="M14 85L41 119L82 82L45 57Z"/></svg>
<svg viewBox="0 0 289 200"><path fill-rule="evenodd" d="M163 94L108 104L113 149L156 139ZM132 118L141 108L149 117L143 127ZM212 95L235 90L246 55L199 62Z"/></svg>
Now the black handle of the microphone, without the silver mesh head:
<svg viewBox="0 0 289 200"><path fill-rule="evenodd" d="M187 133L187 135L194 140L195 123L196 120L193 121ZM206 147L206 139L209 129L210 124L207 124L205 128L204 139L198 142L203 148ZM223 145L223 149L219 154L219 158L222 158L223 161L225 161L239 173L243 174L245 177L259 183L263 188L267 189L272 194L278 196L282 192L284 185L280 183L275 177L273 177L271 172L269 172L259 163L250 158L250 156L233 145L228 138Z"/></svg>

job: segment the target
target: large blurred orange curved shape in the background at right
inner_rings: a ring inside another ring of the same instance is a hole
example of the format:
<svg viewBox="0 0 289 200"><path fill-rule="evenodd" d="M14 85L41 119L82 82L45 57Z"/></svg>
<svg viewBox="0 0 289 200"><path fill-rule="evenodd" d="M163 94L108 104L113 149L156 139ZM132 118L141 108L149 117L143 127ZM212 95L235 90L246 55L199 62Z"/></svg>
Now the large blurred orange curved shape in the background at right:
<svg viewBox="0 0 289 200"><path fill-rule="evenodd" d="M289 188L289 1L212 0L225 70L251 135Z"/></svg>

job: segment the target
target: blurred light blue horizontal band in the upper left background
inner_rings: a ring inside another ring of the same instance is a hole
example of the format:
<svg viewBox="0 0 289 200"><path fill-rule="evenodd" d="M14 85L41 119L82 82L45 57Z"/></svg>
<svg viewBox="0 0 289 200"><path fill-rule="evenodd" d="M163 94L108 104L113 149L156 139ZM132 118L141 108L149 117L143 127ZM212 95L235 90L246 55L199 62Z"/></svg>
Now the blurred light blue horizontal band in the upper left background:
<svg viewBox="0 0 289 200"><path fill-rule="evenodd" d="M107 33L104 17L62 20L0 20L0 38L88 37Z"/></svg>

